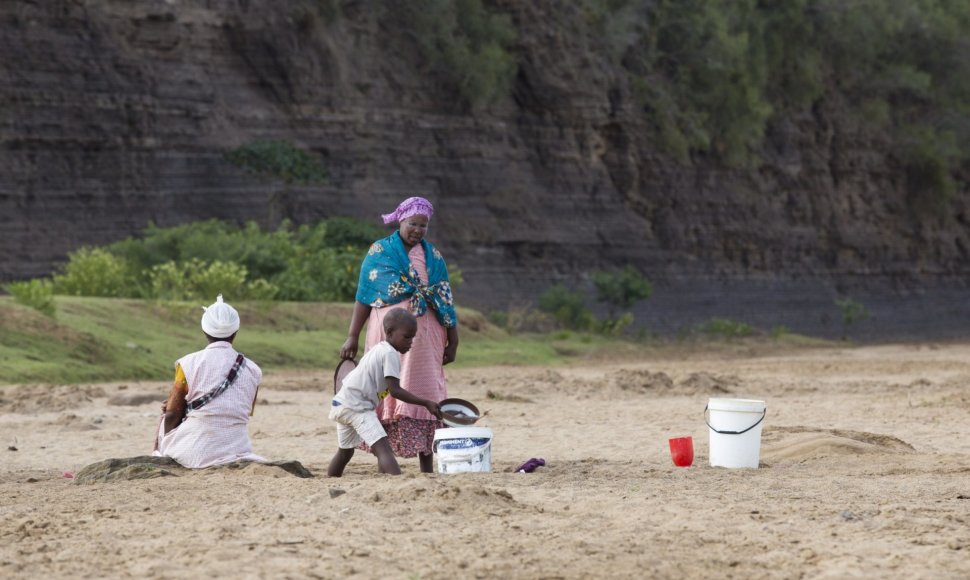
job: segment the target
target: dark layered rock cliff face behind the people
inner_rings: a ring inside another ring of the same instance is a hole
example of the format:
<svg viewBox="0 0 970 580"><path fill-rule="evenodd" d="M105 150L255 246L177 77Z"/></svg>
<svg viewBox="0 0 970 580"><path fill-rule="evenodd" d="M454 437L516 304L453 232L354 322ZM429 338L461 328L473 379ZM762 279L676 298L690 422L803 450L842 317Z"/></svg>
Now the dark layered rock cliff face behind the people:
<svg viewBox="0 0 970 580"><path fill-rule="evenodd" d="M670 162L624 72L560 3L497 2L520 31L512 95L469 113L379 2L327 22L292 1L0 3L0 279L48 274L147 223L377 219L435 202L459 300L501 307L626 263L638 320L711 317L831 334L964 336L968 208L921 212L884 144L837 104L776 123L756 174ZM283 139L331 177L252 178L224 153Z"/></svg>

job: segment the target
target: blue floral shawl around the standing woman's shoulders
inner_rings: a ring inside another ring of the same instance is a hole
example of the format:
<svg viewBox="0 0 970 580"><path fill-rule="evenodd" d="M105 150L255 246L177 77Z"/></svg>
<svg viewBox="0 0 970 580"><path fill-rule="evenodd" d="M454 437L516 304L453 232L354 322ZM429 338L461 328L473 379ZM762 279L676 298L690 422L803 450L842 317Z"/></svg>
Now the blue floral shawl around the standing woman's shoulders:
<svg viewBox="0 0 970 580"><path fill-rule="evenodd" d="M357 302L381 308L409 298L415 316L424 316L430 306L441 326L458 326L445 259L427 240L421 240L421 247L428 266L427 285L418 278L398 232L371 244L360 266Z"/></svg>

